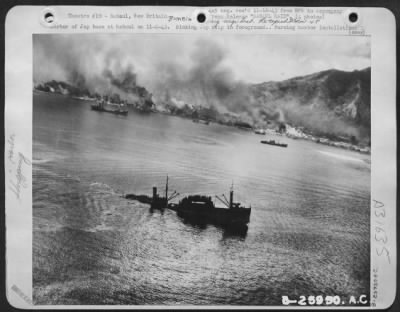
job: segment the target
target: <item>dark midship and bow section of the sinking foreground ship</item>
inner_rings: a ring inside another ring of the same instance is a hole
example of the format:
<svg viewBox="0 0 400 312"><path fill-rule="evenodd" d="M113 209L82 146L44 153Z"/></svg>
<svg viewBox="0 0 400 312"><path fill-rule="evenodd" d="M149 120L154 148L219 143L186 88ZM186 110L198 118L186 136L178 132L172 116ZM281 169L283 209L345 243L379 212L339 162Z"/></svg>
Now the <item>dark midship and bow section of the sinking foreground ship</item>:
<svg viewBox="0 0 400 312"><path fill-rule="evenodd" d="M183 198L174 206L178 216L182 218L195 219L216 223L222 226L243 227L250 222L251 207L241 206L233 201L233 188L230 191L229 201L225 195L217 197L226 207L216 207L211 196L190 195Z"/></svg>

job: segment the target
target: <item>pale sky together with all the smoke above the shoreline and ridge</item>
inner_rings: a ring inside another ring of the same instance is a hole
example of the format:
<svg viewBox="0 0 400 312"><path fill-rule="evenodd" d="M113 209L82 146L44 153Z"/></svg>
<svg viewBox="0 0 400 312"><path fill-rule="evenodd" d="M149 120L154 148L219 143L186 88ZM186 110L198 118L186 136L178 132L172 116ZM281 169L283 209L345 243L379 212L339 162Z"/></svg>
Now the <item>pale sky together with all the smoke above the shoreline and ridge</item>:
<svg viewBox="0 0 400 312"><path fill-rule="evenodd" d="M38 34L33 47L35 83L64 80L125 99L139 85L155 101L215 107L254 123L286 121L288 111L306 116L288 99L266 106L249 83L370 66L369 39L348 36Z"/></svg>

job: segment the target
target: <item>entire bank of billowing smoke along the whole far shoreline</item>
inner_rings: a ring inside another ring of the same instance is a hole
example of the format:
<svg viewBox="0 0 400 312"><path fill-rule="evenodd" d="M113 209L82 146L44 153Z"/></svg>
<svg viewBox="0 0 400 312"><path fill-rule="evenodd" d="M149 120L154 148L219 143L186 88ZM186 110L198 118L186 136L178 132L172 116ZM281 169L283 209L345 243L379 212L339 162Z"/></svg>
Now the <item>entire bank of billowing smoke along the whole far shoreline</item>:
<svg viewBox="0 0 400 312"><path fill-rule="evenodd" d="M285 90L268 93L237 79L227 62L230 51L220 42L198 39L185 50L152 51L152 41L164 39L146 37L143 44L135 45L130 38L126 45L113 45L109 39L91 35L35 35L34 82L63 80L91 93L118 94L131 103L152 98L159 106L206 107L255 126L292 122L358 136L356 127L338 120L332 111L301 105ZM160 59L162 54L166 56ZM276 84L271 86L276 88Z"/></svg>

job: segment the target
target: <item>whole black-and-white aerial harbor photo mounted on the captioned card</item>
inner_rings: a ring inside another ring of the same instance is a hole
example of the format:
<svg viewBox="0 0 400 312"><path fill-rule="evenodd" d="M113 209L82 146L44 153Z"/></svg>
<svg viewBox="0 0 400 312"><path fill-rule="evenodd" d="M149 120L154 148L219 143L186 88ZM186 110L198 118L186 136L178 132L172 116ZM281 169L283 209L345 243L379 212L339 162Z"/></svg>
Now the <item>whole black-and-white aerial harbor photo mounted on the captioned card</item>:
<svg viewBox="0 0 400 312"><path fill-rule="evenodd" d="M34 304L368 305L370 37L32 39Z"/></svg>

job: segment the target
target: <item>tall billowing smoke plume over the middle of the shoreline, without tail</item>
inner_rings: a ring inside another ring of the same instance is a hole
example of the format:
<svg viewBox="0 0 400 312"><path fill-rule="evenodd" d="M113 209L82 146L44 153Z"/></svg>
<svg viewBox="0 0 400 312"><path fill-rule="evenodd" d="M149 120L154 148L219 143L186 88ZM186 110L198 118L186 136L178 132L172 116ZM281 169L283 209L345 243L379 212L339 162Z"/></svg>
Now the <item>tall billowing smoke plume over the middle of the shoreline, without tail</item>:
<svg viewBox="0 0 400 312"><path fill-rule="evenodd" d="M220 113L239 114L243 121L254 123L260 116L247 85L235 79L224 63L227 51L210 40L198 40L190 55L190 65L162 62L154 75L153 93L159 105L171 98Z"/></svg>

